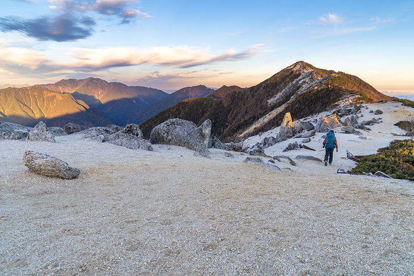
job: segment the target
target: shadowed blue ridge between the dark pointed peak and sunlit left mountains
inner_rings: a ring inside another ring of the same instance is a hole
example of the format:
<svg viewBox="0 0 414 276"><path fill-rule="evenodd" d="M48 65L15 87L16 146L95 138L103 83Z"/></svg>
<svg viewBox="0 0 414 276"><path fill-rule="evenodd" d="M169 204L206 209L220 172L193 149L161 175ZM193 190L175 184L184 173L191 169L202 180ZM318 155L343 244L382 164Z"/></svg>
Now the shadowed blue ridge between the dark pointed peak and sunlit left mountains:
<svg viewBox="0 0 414 276"><path fill-rule="evenodd" d="M207 88L204 85L182 88L180 90L177 90L176 92L169 94L164 99L156 103L153 103L148 107L144 107L140 110L137 110L128 119L128 123L141 124L142 122L151 118L151 116L154 116L159 112L166 110L183 100L196 97L206 97L210 95L212 92L214 92L213 89Z"/></svg>

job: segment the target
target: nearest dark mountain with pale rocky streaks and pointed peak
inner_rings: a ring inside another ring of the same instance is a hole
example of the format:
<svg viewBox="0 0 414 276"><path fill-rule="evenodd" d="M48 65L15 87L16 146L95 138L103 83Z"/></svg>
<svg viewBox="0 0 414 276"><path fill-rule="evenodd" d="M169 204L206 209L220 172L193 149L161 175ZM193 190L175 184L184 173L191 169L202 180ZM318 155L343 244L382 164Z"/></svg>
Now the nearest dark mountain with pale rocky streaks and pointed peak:
<svg viewBox="0 0 414 276"><path fill-rule="evenodd" d="M319 69L303 61L250 88L219 90L206 98L182 101L143 122L140 128L148 137L151 128L170 118L197 125L210 119L212 135L222 140L240 139L279 126L285 112L299 119L347 97L366 102L392 100L357 76Z"/></svg>

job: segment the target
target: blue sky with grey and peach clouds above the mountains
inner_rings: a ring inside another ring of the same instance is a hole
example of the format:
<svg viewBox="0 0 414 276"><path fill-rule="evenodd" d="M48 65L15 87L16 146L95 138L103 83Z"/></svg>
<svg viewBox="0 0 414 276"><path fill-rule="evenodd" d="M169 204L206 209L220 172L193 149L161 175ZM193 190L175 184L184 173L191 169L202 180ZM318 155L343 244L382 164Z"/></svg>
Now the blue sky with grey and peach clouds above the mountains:
<svg viewBox="0 0 414 276"><path fill-rule="evenodd" d="M300 60L414 93L414 1L0 3L0 84L250 87Z"/></svg>

